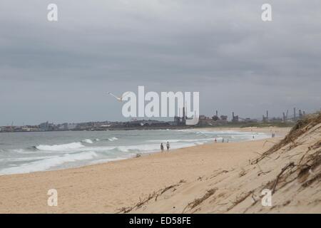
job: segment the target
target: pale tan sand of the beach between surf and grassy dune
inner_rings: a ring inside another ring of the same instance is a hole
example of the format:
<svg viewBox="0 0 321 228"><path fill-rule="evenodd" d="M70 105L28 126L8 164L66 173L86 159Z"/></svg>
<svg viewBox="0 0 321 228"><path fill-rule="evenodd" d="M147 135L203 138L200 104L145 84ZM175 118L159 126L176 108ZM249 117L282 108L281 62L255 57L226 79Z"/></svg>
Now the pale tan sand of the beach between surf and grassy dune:
<svg viewBox="0 0 321 228"><path fill-rule="evenodd" d="M270 130L270 128L253 129L258 132ZM273 130L277 131L277 136L281 136L289 129L273 128ZM214 182L202 182L202 180L209 180L215 173L243 169L249 164L249 160L258 157L258 154L281 138L270 139L268 142L258 140L213 143L68 170L3 175L0 176L0 212L114 213L119 212L121 208L131 208L132 212L181 213L188 202L208 190L208 185L214 187ZM254 167L251 169L255 169ZM245 172L247 169L248 167ZM257 173L258 168L255 170L255 175ZM233 187L227 189L227 192L235 192L237 195L239 192L246 192L246 188L250 185L250 179L245 181L247 186L243 186L244 183L235 175L229 176L228 173L224 175L227 175L225 178L230 178L230 182L234 182ZM174 188L171 188L158 200L133 208L133 205L142 202L148 195L152 196L154 192L163 191L165 187L179 182L179 194L174 195ZM202 185L198 185L199 183ZM244 191L240 190L241 186L244 187ZM58 191L57 207L47 205L49 189ZM320 191L316 195L320 196ZM173 200L166 200L170 197L173 197ZM193 208L193 211L195 209L197 208ZM189 209L187 212L193 211ZM220 211L198 209L198 212ZM243 212L243 208L229 212Z"/></svg>

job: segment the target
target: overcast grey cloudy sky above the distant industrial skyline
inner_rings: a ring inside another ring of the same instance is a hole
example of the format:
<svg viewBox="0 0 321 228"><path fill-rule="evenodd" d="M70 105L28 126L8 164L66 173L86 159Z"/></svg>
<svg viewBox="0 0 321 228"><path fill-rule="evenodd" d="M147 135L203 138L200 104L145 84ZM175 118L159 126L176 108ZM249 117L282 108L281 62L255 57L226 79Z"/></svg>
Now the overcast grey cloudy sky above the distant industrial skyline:
<svg viewBox="0 0 321 228"><path fill-rule="evenodd" d="M319 0L1 0L0 125L125 120L106 92L138 86L210 116L320 110L320 42Z"/></svg>

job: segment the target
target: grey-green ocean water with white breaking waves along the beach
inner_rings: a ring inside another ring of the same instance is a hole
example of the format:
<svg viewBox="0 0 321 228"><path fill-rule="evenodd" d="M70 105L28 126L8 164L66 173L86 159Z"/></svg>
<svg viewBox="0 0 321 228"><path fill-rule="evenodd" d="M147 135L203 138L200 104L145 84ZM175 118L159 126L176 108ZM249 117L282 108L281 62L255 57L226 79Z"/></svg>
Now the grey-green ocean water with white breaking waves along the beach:
<svg viewBox="0 0 321 228"><path fill-rule="evenodd" d="M0 175L66 169L213 142L269 138L265 133L211 130L115 130L0 133Z"/></svg>

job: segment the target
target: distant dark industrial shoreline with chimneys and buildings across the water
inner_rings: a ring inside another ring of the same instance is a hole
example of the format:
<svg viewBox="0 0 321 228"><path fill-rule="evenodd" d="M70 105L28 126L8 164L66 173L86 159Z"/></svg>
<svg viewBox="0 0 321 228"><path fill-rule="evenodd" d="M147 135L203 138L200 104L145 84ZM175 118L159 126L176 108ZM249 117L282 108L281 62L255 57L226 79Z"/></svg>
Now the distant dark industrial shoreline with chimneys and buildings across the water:
<svg viewBox="0 0 321 228"><path fill-rule="evenodd" d="M41 123L39 125L11 125L1 126L0 132L44 132L44 131L64 131L64 130L139 130L139 129L180 129L180 128L198 128L198 127L215 127L215 126L233 126L255 123L295 123L305 115L305 111L293 108L292 115L289 115L289 110L282 113L282 117L269 117L268 111L263 115L262 119L242 118L235 115L233 112L230 120L228 115L219 115L218 110L215 115L208 117L200 115L197 122L194 119L187 118L183 109L183 116L175 116L173 121L159 120L136 120L131 121L102 121L102 122L86 122L86 123Z"/></svg>

